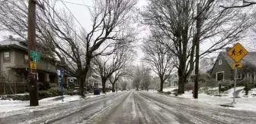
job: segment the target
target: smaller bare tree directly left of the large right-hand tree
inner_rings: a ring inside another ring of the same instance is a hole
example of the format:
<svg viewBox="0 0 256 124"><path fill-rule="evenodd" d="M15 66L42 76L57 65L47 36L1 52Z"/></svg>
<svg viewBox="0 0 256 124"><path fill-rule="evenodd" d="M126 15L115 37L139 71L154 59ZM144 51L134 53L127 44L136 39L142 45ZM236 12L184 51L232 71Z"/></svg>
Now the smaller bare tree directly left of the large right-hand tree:
<svg viewBox="0 0 256 124"><path fill-rule="evenodd" d="M160 78L160 90L162 91L166 79L171 75L174 64L174 55L165 45L161 43L163 39L159 36L151 36L144 42L142 50L145 53L144 60Z"/></svg>

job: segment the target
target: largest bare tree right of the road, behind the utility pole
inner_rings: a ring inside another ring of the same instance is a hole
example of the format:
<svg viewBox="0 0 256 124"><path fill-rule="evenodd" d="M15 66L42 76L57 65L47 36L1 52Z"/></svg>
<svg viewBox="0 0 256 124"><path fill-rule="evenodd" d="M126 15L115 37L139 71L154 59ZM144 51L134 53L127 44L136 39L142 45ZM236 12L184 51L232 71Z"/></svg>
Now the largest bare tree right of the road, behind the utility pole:
<svg viewBox="0 0 256 124"><path fill-rule="evenodd" d="M178 93L184 94L184 84L194 70L194 52L196 43L197 4L202 7L204 20L200 31L200 43L211 42L210 47L201 51L200 57L217 51L232 42L242 39L242 34L252 24L250 17L242 11L222 12L219 1L213 0L149 0L149 5L142 12L144 22L158 36L165 36L162 41L172 54L178 57Z"/></svg>

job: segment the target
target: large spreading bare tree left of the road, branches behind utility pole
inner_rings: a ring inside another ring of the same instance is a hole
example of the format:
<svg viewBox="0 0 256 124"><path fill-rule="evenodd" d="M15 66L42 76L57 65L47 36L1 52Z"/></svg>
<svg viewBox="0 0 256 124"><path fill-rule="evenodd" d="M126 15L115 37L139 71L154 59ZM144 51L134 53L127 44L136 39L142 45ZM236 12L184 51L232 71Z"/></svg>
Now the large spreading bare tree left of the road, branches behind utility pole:
<svg viewBox="0 0 256 124"><path fill-rule="evenodd" d="M90 9L92 27L89 32L85 29L78 32L72 20L74 17L66 11L57 11L56 1L43 2L46 9L37 9L37 39L54 51L56 57L66 61L69 72L78 77L80 95L84 96L84 82L91 59L112 54L117 44L133 38L130 11L137 0L96 0L94 8ZM27 1L2 2L0 13L3 29L27 39ZM105 51L109 48L111 51Z"/></svg>

